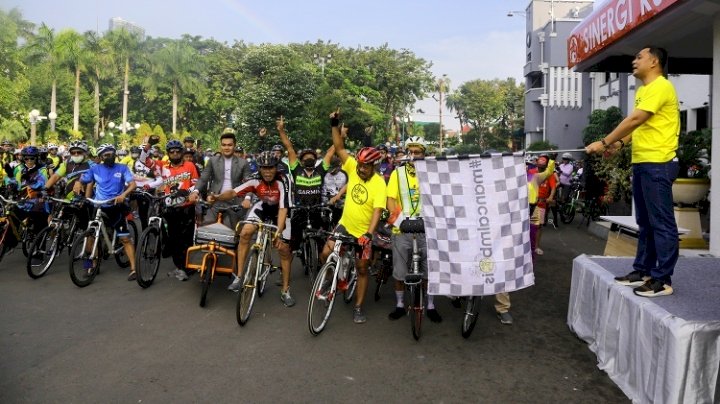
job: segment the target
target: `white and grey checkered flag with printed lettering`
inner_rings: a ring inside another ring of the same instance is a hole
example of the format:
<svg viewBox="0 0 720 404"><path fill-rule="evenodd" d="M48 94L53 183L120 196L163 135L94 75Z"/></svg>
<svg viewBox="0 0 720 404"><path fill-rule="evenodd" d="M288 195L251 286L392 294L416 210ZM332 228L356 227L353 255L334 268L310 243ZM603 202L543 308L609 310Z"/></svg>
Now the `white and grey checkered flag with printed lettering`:
<svg viewBox="0 0 720 404"><path fill-rule="evenodd" d="M427 158L420 180L428 293L487 296L533 285L522 154Z"/></svg>

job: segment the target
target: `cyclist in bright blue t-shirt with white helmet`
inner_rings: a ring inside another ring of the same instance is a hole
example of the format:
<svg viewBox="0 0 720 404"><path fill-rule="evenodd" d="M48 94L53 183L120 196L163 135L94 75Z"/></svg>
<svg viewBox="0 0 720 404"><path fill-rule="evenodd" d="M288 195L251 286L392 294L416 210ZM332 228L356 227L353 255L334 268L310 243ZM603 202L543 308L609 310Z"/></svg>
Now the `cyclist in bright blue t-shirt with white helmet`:
<svg viewBox="0 0 720 404"><path fill-rule="evenodd" d="M135 190L135 180L128 167L115 162L115 146L105 143L97 148L97 154L102 159L102 164L95 164L80 176L80 181L75 182L73 192L79 194L82 186L86 185L85 195L90 196L93 185L95 198L99 200L114 199L110 205L100 207L105 213L104 221L108 228L115 229L120 242L123 243L125 254L130 260L130 274L128 281L137 278L135 274L135 247L130 239L126 216L129 212L125 200ZM92 184L92 185L88 185ZM90 262L86 262L90 265Z"/></svg>

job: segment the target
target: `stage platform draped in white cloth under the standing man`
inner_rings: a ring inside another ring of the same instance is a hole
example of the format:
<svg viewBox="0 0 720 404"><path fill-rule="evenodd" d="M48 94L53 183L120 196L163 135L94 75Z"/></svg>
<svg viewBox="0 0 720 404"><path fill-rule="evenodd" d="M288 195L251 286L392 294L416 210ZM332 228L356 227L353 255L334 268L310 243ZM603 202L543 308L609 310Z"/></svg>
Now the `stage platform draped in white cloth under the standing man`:
<svg viewBox="0 0 720 404"><path fill-rule="evenodd" d="M720 258L680 257L657 298L614 282L632 262L575 258L568 326L634 403L720 403Z"/></svg>

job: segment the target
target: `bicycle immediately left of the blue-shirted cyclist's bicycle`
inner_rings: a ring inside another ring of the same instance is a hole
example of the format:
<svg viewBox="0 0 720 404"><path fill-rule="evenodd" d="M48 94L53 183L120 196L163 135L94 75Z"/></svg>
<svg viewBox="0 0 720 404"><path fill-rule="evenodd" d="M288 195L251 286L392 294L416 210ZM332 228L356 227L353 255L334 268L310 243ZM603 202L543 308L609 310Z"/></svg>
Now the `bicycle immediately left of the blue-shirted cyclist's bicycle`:
<svg viewBox="0 0 720 404"><path fill-rule="evenodd" d="M55 202L50 224L38 233L29 249L26 269L32 279L45 275L60 251L67 247L70 252L79 232L76 215L78 202L54 197L50 197L50 200Z"/></svg>

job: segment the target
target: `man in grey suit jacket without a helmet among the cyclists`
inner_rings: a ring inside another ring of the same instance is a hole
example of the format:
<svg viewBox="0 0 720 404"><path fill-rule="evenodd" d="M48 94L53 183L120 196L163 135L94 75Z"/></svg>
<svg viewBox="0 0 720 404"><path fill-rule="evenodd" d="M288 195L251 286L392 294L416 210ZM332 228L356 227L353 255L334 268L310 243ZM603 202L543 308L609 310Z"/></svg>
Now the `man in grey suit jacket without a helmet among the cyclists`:
<svg viewBox="0 0 720 404"><path fill-rule="evenodd" d="M226 128L220 136L220 155L211 157L200 179L195 185L195 190L190 195L190 200L195 201L200 197L200 193L207 196L209 194L217 195L228 189L233 189L250 178L251 172L245 159L233 155L235 150L235 131ZM237 205L240 201L233 199L230 201L216 202L205 215L205 223L211 223L216 220L217 211L220 207L229 205ZM231 228L235 228L241 213L228 211L225 214L224 222Z"/></svg>

